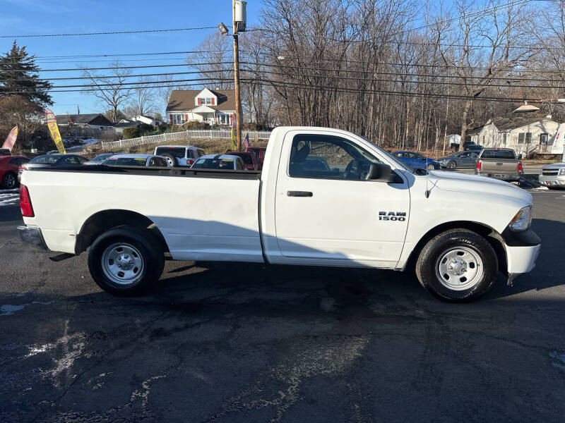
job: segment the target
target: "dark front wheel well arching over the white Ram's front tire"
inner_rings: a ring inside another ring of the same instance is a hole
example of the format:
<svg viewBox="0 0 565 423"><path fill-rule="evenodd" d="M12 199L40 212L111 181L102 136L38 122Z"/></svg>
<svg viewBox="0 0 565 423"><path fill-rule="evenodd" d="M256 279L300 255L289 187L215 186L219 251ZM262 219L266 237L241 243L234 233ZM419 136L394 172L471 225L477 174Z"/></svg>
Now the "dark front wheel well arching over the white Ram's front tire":
<svg viewBox="0 0 565 423"><path fill-rule="evenodd" d="M502 240L502 236L490 226L472 221L453 221L441 223L441 225L438 225L435 228L427 231L427 233L422 236L420 241L418 241L418 243L412 249L410 257L408 257L408 261L406 262L405 269L413 269L415 267L419 253L422 251L424 245L426 245L429 240L434 238L434 236L439 235L439 233L456 228L468 229L469 231L475 232L486 239L489 244L492 245L494 252L496 252L496 258L499 261L500 271L502 271L503 273L506 272L506 250L504 249L504 240Z"/></svg>

